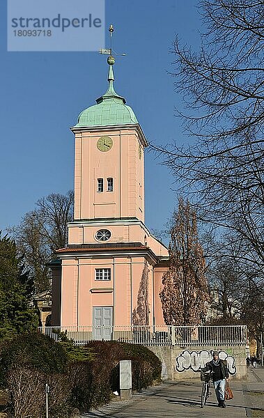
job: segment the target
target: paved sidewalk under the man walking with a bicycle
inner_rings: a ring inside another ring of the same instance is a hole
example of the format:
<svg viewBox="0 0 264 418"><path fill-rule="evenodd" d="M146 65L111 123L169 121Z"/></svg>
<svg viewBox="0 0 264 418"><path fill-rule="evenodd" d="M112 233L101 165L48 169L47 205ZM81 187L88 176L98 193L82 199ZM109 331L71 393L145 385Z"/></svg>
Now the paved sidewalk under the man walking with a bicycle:
<svg viewBox="0 0 264 418"><path fill-rule="evenodd" d="M217 408L215 390L201 408L201 382L164 382L134 394L130 401L114 401L82 418L264 418L264 368L248 369L245 382L230 381L234 398L226 401L226 409Z"/></svg>

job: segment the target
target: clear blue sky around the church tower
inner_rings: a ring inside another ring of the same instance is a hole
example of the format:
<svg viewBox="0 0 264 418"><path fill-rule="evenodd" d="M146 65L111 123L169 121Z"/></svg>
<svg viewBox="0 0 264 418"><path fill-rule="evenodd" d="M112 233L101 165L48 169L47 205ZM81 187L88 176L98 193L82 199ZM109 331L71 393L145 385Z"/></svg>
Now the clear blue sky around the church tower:
<svg viewBox="0 0 264 418"><path fill-rule="evenodd" d="M116 91L126 98L146 138L157 144L187 137L174 116L173 39L199 42L196 0L106 0L114 24ZM0 229L18 224L36 201L73 189L75 125L81 110L107 89L106 56L96 52L7 52L6 0L0 6ZM109 46L108 30L106 45ZM104 47L104 45L102 45ZM169 169L146 151L146 225L164 229L176 192Z"/></svg>

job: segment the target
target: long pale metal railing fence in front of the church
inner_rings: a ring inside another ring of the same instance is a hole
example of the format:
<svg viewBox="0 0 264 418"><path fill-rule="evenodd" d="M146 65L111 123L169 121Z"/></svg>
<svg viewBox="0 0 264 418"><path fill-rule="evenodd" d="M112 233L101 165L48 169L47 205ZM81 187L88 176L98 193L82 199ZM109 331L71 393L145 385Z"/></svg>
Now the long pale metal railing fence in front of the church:
<svg viewBox="0 0 264 418"><path fill-rule="evenodd" d="M92 340L123 341L144 346L241 346L247 343L246 325L112 325L101 327L39 327L38 330L59 341L65 332L78 346Z"/></svg>

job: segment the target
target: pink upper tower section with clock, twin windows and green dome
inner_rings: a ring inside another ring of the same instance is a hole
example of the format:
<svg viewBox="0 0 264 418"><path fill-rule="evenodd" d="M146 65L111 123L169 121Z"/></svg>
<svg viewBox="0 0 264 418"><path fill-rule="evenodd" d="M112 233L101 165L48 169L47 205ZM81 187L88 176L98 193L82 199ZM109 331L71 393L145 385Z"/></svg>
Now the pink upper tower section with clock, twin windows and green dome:
<svg viewBox="0 0 264 418"><path fill-rule="evenodd" d="M81 112L75 134L75 221L132 219L144 222L143 150L147 146L131 107L109 88L97 104Z"/></svg>

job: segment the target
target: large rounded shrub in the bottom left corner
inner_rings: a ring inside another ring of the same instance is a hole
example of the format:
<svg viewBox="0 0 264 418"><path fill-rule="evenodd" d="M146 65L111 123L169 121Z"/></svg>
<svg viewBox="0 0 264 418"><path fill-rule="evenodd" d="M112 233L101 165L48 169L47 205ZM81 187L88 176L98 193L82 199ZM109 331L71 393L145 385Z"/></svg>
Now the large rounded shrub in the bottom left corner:
<svg viewBox="0 0 264 418"><path fill-rule="evenodd" d="M49 394L49 417L72 416L68 355L48 336L22 334L1 347L1 385L10 391L10 417L45 416L45 384Z"/></svg>

